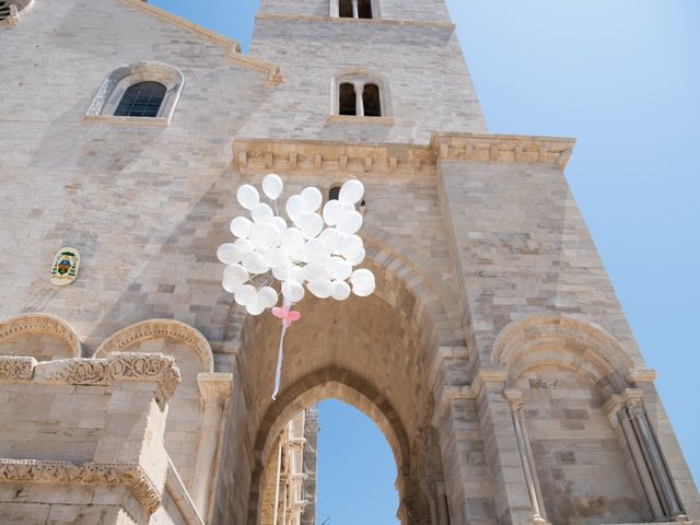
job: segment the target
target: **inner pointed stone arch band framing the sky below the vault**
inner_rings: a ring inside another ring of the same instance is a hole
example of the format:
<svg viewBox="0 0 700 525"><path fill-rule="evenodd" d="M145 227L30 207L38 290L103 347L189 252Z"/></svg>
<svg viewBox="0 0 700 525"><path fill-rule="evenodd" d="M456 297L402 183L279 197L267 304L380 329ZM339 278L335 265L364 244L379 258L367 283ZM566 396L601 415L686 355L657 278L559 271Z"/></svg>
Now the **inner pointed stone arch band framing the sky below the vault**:
<svg viewBox="0 0 700 525"><path fill-rule="evenodd" d="M396 460L396 488L400 505L397 511L399 515L406 515L407 505L411 505L416 489L410 480L410 442L396 409L377 388L362 377L330 366L312 372L285 388L262 418L253 443L255 468L252 480L253 499L248 506L249 524L258 523L260 502L256 498L261 498L260 483L267 457L282 427L305 408L330 398L347 402L363 412L384 434ZM259 490L256 491L256 487Z"/></svg>

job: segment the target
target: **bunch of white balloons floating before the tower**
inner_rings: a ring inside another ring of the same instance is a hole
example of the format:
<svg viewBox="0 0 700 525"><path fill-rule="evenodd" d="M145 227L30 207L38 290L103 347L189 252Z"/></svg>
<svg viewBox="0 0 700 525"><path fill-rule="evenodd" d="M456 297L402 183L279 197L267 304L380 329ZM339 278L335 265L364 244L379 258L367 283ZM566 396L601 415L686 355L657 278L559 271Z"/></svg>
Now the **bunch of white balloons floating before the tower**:
<svg viewBox="0 0 700 525"><path fill-rule="evenodd" d="M291 226L277 207L283 188L278 175L262 179L262 191L272 206L260 201L254 186L238 188L238 202L250 211L253 220L233 219L231 233L238 238L222 244L217 252L226 265L224 290L233 293L235 302L250 315L278 303L278 292L270 285L273 279L281 282L283 304L288 306L304 299L304 288L317 298L338 301L347 300L351 291L359 296L372 294L374 275L366 269L353 271L365 257L362 238L357 235L362 226L362 215L355 209L364 195L362 183L345 183L338 200L329 200L322 214L323 196L317 188L307 187L293 195L285 205Z"/></svg>

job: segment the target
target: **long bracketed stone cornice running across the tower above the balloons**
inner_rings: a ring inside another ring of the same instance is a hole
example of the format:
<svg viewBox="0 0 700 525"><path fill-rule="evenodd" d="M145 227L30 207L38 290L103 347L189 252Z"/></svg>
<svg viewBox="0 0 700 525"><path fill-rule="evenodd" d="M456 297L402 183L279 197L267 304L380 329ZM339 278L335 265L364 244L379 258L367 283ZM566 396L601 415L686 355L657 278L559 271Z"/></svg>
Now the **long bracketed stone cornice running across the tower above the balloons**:
<svg viewBox="0 0 700 525"><path fill-rule="evenodd" d="M366 174L434 172L440 161L549 164L564 168L573 139L483 133L434 135L430 144L247 139L233 141L233 159L242 173L334 171Z"/></svg>

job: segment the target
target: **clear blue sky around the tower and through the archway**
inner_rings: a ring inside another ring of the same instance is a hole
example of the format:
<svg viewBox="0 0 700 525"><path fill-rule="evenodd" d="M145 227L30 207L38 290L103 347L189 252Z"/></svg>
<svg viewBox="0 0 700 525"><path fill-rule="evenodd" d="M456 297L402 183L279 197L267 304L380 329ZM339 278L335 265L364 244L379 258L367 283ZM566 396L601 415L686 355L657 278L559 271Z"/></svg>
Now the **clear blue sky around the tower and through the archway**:
<svg viewBox="0 0 700 525"><path fill-rule="evenodd" d="M247 48L255 1L151 2ZM447 3L490 130L578 138L567 178L700 480L700 2ZM318 524L396 523L382 435L336 401L319 417Z"/></svg>

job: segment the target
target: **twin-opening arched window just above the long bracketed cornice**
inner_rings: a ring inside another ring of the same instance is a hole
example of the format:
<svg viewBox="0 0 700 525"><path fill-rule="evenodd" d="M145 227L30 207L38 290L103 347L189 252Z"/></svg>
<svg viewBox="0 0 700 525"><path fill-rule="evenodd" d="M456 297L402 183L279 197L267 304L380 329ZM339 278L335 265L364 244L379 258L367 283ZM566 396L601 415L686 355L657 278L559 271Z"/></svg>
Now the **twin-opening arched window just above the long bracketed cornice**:
<svg viewBox="0 0 700 525"><path fill-rule="evenodd" d="M384 78L360 70L338 77L334 82L332 114L357 117L388 117L388 90Z"/></svg>

